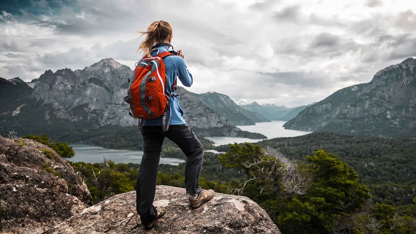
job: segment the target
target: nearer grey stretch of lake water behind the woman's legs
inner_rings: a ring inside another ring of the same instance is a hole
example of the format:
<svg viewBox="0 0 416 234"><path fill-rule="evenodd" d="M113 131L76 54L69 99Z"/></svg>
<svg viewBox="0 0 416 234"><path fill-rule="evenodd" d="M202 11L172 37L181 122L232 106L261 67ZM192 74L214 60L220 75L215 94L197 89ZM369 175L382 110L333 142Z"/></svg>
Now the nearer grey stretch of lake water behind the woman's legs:
<svg viewBox="0 0 416 234"><path fill-rule="evenodd" d="M98 146L74 144L72 149L75 152L74 162L101 163L105 155L107 160L114 163L136 163L140 164L143 151L131 150L110 150ZM69 159L72 160L72 159ZM179 158L161 158L160 164L179 165L185 161Z"/></svg>

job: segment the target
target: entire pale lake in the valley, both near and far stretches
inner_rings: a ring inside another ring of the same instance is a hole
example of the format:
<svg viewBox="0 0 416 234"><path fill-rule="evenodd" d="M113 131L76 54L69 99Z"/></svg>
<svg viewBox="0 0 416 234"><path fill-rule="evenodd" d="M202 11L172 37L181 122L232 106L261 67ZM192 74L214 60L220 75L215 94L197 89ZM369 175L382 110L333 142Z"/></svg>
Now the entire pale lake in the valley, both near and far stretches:
<svg viewBox="0 0 416 234"><path fill-rule="evenodd" d="M300 135L306 135L311 132L288 130L283 128L285 121L272 121L265 123L256 123L256 125L250 126L237 126L243 131L249 131L253 133L261 133L268 139L277 137L294 137ZM228 143L244 143L244 142L258 142L258 139L249 138L236 138L236 137L209 137L207 138L215 142L215 145L225 145ZM107 160L111 160L114 163L140 163L143 151L131 151L131 150L110 150L104 149L98 146L74 144L70 145L75 152L73 158L74 162L85 163L99 163L103 161L105 156ZM206 150L208 152L220 153L215 150ZM178 158L161 158L160 164L178 165L185 162Z"/></svg>

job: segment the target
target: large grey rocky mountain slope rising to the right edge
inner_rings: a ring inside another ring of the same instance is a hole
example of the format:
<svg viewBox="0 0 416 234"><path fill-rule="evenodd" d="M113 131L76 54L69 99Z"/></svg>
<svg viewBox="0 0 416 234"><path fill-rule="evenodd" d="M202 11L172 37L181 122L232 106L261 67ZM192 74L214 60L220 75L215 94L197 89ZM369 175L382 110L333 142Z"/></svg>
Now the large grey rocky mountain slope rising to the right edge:
<svg viewBox="0 0 416 234"><path fill-rule="evenodd" d="M287 129L381 137L416 137L416 59L341 89L285 123Z"/></svg>

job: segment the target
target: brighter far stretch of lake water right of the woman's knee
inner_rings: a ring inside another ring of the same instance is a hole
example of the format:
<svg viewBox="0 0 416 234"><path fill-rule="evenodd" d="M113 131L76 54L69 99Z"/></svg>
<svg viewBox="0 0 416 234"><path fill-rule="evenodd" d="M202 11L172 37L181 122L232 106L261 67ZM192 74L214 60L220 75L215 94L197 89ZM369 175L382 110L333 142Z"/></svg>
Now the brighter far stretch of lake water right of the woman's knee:
<svg viewBox="0 0 416 234"><path fill-rule="evenodd" d="M307 131L297 131L297 130L289 130L283 128L283 124L285 121L272 121L272 122L264 122L264 123L256 123L256 125L248 125L248 126L237 126L243 131L249 131L252 133L261 133L267 137L267 139L277 138L277 137L294 137L300 135L306 135L312 132ZM238 138L238 137L208 137L207 139L212 140L215 142L215 146L218 145L226 145L229 143L254 143L258 142L258 139L250 139L250 138Z"/></svg>

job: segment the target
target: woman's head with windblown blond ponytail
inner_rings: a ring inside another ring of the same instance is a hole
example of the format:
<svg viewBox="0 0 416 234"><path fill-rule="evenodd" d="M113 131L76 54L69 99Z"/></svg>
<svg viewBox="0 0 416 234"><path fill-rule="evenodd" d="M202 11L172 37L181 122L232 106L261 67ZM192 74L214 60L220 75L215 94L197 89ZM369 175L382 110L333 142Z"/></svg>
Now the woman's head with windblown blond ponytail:
<svg viewBox="0 0 416 234"><path fill-rule="evenodd" d="M172 40L172 27L169 22L166 21L154 21L150 24L150 26L147 28L147 31L137 31L141 33L141 36L146 34L146 39L144 39L143 42L141 42L139 49L137 51L139 52L142 50L144 54L150 57L150 51L155 43L171 43ZM141 37L140 36L140 37Z"/></svg>

